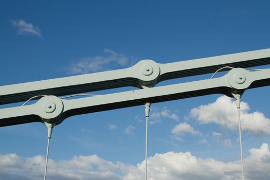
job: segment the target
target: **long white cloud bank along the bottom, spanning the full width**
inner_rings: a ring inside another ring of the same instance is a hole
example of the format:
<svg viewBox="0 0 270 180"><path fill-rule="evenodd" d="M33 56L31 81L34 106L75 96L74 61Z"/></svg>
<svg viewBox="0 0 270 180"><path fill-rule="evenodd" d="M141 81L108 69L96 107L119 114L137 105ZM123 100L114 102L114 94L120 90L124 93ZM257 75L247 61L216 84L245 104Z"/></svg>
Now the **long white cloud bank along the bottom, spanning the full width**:
<svg viewBox="0 0 270 180"><path fill-rule="evenodd" d="M246 179L269 179L269 146L252 148L244 159ZM45 165L43 156L24 158L16 154L0 154L0 176L2 179L41 179ZM145 161L136 166L113 163L98 157L75 156L68 160L49 159L48 179L113 179L140 180L144 177ZM190 152L167 152L148 158L148 175L151 180L195 180L241 178L240 160L220 161L213 158L199 158Z"/></svg>

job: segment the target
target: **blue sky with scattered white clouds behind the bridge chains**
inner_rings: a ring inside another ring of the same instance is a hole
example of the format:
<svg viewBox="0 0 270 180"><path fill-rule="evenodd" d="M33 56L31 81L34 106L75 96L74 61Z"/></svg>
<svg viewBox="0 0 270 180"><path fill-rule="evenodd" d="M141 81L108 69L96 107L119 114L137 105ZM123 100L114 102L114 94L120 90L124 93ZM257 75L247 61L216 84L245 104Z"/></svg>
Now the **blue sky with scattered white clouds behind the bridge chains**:
<svg viewBox="0 0 270 180"><path fill-rule="evenodd" d="M269 5L268 1L2 1L0 85L120 69L142 59L170 63L270 48ZM250 89L242 98L249 179L269 179L269 88ZM94 93L130 89L134 87ZM234 100L222 95L152 104L149 177L239 179L233 105ZM74 116L55 127L50 179L142 179L144 108ZM46 131L38 122L0 128L0 179L42 178ZM251 165L256 162L254 169Z"/></svg>

